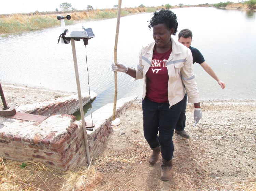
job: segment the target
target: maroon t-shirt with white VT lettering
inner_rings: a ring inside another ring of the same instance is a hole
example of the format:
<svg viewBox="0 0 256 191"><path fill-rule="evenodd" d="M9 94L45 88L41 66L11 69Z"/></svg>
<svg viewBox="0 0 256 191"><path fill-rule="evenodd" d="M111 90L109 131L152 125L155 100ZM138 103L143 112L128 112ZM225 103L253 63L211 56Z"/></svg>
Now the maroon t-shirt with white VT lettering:
<svg viewBox="0 0 256 191"><path fill-rule="evenodd" d="M157 103L169 103L168 101L168 71L166 63L172 49L165 53L158 53L154 48L153 58L147 76L146 97Z"/></svg>

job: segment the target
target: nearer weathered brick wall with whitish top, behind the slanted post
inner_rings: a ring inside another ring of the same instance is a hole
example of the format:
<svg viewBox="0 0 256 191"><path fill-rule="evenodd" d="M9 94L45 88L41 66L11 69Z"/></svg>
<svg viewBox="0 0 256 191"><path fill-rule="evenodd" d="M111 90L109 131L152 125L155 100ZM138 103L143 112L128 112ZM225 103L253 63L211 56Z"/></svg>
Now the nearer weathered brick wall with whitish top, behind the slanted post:
<svg viewBox="0 0 256 191"><path fill-rule="evenodd" d="M117 101L116 117L136 98ZM91 158L103 149L112 132L113 103L93 112L94 131L87 131ZM91 117L85 118L89 121ZM72 115L53 115L42 123L0 118L0 156L17 161L37 161L48 167L68 170L86 165L81 121Z"/></svg>

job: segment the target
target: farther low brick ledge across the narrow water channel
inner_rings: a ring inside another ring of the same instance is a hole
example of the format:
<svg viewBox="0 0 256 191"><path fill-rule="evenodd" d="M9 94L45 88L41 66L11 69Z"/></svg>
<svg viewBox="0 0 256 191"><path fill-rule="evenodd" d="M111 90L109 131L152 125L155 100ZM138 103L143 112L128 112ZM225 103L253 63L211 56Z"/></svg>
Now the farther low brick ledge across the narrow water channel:
<svg viewBox="0 0 256 191"><path fill-rule="evenodd" d="M90 91L91 99L95 99L97 94ZM83 105L90 101L89 92L82 93ZM41 116L51 116L56 114L72 115L79 110L78 94L52 99L50 101L27 104L16 108L16 111Z"/></svg>

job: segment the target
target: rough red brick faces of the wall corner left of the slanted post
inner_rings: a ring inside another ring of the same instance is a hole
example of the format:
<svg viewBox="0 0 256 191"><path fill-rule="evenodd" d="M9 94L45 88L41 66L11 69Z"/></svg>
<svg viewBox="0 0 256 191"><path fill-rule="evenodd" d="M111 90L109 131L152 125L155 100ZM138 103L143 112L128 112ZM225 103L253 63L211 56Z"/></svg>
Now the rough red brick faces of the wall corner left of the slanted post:
<svg viewBox="0 0 256 191"><path fill-rule="evenodd" d="M52 131L46 136L37 134L32 139L20 135L0 133L0 155L17 161L37 161L48 167L67 170L86 161L83 133L74 116L57 115L70 120L66 132ZM52 125L52 124L50 124Z"/></svg>

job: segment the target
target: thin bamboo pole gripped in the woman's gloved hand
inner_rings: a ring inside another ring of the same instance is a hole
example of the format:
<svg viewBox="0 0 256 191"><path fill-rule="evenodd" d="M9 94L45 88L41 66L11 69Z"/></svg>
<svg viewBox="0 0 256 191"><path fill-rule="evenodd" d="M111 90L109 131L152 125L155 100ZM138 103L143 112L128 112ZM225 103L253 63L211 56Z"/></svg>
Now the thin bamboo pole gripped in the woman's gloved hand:
<svg viewBox="0 0 256 191"><path fill-rule="evenodd" d="M122 0L118 0L118 11L117 11L117 21L116 21L116 38L115 38L115 47L114 47L114 63L115 63L115 65L117 62L117 42L118 42L118 34L119 34L120 16L121 16L121 4L122 4ZM116 100L117 100L117 71L115 71L115 97L114 97L114 108L113 108L112 120L115 120Z"/></svg>

